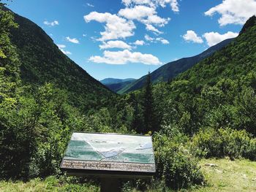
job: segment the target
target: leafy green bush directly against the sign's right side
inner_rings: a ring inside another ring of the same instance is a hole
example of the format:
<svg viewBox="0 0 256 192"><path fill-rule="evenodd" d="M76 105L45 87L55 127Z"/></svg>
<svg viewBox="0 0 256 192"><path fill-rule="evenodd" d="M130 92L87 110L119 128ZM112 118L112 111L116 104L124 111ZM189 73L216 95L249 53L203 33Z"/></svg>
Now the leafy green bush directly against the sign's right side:
<svg viewBox="0 0 256 192"><path fill-rule="evenodd" d="M187 188L203 182L203 174L196 159L182 143L175 138L157 134L154 136L157 180L162 180L169 188Z"/></svg>

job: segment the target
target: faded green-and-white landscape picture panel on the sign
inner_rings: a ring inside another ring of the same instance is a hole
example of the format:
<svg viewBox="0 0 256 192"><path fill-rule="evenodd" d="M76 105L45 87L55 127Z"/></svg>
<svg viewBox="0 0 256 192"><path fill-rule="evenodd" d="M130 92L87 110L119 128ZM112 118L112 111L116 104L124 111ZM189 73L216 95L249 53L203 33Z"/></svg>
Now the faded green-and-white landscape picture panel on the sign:
<svg viewBox="0 0 256 192"><path fill-rule="evenodd" d="M151 137L73 133L64 160L154 164Z"/></svg>

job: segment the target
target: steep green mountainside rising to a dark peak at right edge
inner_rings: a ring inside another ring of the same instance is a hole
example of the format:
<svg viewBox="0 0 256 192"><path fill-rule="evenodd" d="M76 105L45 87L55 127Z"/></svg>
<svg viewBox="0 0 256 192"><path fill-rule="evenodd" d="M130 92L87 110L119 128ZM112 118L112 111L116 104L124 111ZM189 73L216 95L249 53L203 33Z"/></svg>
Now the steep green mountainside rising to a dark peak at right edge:
<svg viewBox="0 0 256 192"><path fill-rule="evenodd" d="M188 80L200 85L214 85L221 78L241 80L256 88L256 17L246 21L240 34L225 48L179 75L176 80ZM243 77L244 76L244 77ZM246 77L248 76L248 77ZM241 85L240 85L241 86Z"/></svg>

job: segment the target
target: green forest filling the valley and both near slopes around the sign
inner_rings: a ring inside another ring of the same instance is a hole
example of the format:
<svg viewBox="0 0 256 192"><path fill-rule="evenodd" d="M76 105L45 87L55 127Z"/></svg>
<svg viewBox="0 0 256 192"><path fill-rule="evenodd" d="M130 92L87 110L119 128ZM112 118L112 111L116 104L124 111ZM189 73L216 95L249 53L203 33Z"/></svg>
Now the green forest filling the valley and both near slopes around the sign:
<svg viewBox="0 0 256 192"><path fill-rule="evenodd" d="M207 185L201 159L256 161L255 91L255 16L236 39L186 72L154 85L148 73L142 89L118 95L61 53L41 28L0 4L3 181L99 191L98 180L67 177L59 168L72 132L87 131L153 137L157 173L124 181L123 191Z"/></svg>

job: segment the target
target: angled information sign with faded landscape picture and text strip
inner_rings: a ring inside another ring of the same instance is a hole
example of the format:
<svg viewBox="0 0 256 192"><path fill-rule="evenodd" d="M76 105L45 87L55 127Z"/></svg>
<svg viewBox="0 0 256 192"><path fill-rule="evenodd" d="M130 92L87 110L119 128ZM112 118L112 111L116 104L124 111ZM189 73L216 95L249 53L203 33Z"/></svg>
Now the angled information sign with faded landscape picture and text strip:
<svg viewBox="0 0 256 192"><path fill-rule="evenodd" d="M73 133L61 169L72 175L151 177L156 172L151 137Z"/></svg>

